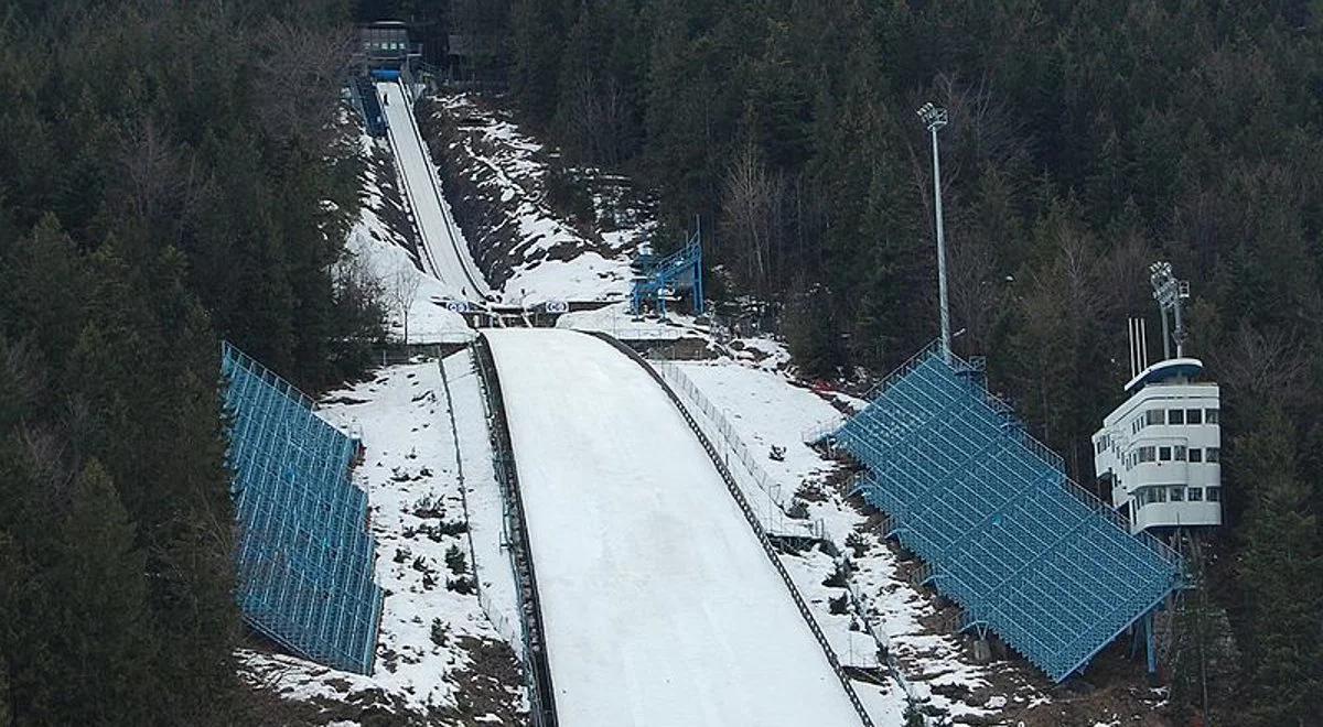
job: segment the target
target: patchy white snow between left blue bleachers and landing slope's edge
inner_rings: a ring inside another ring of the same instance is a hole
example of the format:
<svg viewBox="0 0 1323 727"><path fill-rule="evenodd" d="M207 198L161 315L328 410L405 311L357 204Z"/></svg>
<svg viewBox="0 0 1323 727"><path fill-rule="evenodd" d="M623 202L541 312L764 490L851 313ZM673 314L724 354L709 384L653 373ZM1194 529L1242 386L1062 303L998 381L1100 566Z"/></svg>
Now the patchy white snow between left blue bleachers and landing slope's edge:
<svg viewBox="0 0 1323 727"><path fill-rule="evenodd" d="M451 357L447 370L462 375L464 364L460 356ZM429 361L382 369L370 381L328 394L318 412L343 430L357 424L363 431L365 456L353 478L368 490L370 529L377 538L376 578L386 591L374 670L360 675L296 657L242 652L245 673L287 699L352 702L355 694L380 689L414 714L455 707L456 673L472 666L458 637L503 640L508 634L492 625L478 596L446 587L447 578L454 578L445 562L451 546L472 568L467 535L427 534L442 521L464 519L438 365ZM480 410L466 414L482 422ZM460 438L470 444L463 434ZM490 460L466 457L464 465L474 486L492 481ZM483 522L483 527L490 526ZM443 644L433 640L434 624L445 631ZM507 689L519 702L521 687Z"/></svg>

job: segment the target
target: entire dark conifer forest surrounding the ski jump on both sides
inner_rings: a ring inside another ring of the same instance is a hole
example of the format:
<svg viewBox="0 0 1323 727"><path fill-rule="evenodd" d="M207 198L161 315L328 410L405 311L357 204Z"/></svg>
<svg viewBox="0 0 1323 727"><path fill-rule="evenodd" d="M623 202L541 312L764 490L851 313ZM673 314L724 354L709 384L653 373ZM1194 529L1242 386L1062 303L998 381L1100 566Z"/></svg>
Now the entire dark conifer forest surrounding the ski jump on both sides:
<svg viewBox="0 0 1323 727"><path fill-rule="evenodd" d="M388 340L345 254L381 17L438 65L496 38L474 93L557 184L632 178L658 246L697 218L708 297L767 311L806 381L934 338L914 110L947 108L954 348L1084 484L1171 260L1226 494L1163 724L1323 724L1319 0L7 0L0 724L298 723L238 677L221 341L315 394Z"/></svg>

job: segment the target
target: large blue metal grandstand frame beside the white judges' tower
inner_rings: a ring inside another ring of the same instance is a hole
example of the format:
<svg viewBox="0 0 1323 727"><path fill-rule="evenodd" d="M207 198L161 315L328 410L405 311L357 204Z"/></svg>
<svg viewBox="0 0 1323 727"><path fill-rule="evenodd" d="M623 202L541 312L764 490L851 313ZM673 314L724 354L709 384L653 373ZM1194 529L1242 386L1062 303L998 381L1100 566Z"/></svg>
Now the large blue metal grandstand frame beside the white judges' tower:
<svg viewBox="0 0 1323 727"><path fill-rule="evenodd" d="M980 366L933 344L893 371L832 441L868 473L864 498L959 603L1062 681L1183 586L1180 555L1131 535L1025 432Z"/></svg>

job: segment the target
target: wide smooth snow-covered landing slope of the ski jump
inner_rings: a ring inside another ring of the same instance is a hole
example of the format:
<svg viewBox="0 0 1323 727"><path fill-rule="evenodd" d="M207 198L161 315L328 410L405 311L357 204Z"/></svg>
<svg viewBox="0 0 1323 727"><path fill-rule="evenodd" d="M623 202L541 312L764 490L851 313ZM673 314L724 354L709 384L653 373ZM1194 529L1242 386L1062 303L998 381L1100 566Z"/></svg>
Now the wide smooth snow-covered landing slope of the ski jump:
<svg viewBox="0 0 1323 727"><path fill-rule="evenodd" d="M487 337L561 723L859 724L785 583L658 383L582 333Z"/></svg>

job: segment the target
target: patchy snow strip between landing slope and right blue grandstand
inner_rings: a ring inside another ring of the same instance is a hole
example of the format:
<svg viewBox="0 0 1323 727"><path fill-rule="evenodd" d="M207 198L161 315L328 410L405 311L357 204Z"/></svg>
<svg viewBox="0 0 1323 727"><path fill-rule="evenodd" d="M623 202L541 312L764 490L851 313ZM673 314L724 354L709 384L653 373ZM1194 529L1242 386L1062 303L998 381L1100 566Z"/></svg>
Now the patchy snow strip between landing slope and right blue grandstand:
<svg viewBox="0 0 1323 727"><path fill-rule="evenodd" d="M1025 677L1016 675L1023 673L1021 666L974 664L959 637L934 628L938 609L909 584L897 553L868 526L868 517L830 484L840 465L802 441L804 430L839 415L828 395L799 386L774 370L770 361L775 360L777 344L750 345L746 341L741 349L747 348L766 349L773 356L762 360L762 367L730 358L684 362L679 367L714 407L724 411L725 420L759 459L757 465L783 490L795 492L795 500L807 508L808 519L822 519L836 547L849 555L857 567L853 583L867 600L869 623L889 641L914 694L949 714L957 724L998 723L1003 715L1019 712L1041 699ZM773 447L785 449L779 461L771 457ZM750 493L750 498L754 494ZM778 519L779 516L769 521L773 530ZM823 583L835 571L832 558L812 550L785 555L783 560L804 597L818 609L819 623L841 661L856 666L876 665L872 641L852 631L853 616L831 613L830 600L845 592ZM860 683L859 687L878 723L894 724L894 716L904 708L904 694L890 685L880 689Z"/></svg>

